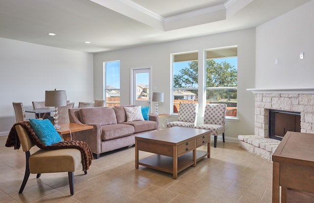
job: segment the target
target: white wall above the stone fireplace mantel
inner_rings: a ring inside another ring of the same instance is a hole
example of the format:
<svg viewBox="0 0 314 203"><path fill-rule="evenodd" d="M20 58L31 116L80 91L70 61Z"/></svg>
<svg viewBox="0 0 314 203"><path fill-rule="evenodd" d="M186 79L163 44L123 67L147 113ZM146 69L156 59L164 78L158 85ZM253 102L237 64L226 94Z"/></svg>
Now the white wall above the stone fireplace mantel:
<svg viewBox="0 0 314 203"><path fill-rule="evenodd" d="M257 27L255 88L314 87L313 11L311 0Z"/></svg>

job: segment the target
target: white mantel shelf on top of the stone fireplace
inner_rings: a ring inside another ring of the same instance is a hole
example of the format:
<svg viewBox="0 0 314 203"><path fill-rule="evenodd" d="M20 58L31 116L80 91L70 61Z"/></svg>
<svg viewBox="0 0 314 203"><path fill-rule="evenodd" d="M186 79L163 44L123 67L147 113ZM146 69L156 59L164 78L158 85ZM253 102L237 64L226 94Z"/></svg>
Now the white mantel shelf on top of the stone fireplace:
<svg viewBox="0 0 314 203"><path fill-rule="evenodd" d="M314 94L314 88L249 88L254 94Z"/></svg>

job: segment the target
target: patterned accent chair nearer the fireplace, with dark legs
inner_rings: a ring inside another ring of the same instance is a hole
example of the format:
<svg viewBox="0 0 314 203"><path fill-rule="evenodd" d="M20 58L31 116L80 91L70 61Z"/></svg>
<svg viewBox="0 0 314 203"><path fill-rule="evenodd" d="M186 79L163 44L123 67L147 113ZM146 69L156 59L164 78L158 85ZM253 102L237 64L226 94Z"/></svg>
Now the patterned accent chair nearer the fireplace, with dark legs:
<svg viewBox="0 0 314 203"><path fill-rule="evenodd" d="M204 124L197 125L195 128L211 130L214 136L214 147L217 146L217 137L222 134L225 142L225 120L227 104L206 104L204 113Z"/></svg>

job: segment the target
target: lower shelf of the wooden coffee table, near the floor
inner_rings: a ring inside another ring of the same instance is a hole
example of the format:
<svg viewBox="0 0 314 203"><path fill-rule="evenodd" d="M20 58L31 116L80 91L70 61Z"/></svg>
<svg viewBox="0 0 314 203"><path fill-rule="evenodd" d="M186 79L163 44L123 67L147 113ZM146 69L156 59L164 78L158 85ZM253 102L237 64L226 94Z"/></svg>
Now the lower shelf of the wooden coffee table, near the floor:
<svg viewBox="0 0 314 203"><path fill-rule="evenodd" d="M207 155L207 151L196 150L196 162L203 159ZM173 174L173 158L170 156L154 154L139 160L138 164L148 168L156 169L158 171ZM183 154L182 156L178 157L178 173L182 172L184 169L192 166L193 164L193 151Z"/></svg>

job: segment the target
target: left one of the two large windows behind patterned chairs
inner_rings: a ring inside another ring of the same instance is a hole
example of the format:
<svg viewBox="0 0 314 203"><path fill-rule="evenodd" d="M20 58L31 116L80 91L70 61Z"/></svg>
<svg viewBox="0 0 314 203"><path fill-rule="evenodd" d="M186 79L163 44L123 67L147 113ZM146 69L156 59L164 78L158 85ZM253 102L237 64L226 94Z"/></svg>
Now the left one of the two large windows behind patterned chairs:
<svg viewBox="0 0 314 203"><path fill-rule="evenodd" d="M180 103L198 103L198 53L173 55L173 113Z"/></svg>

